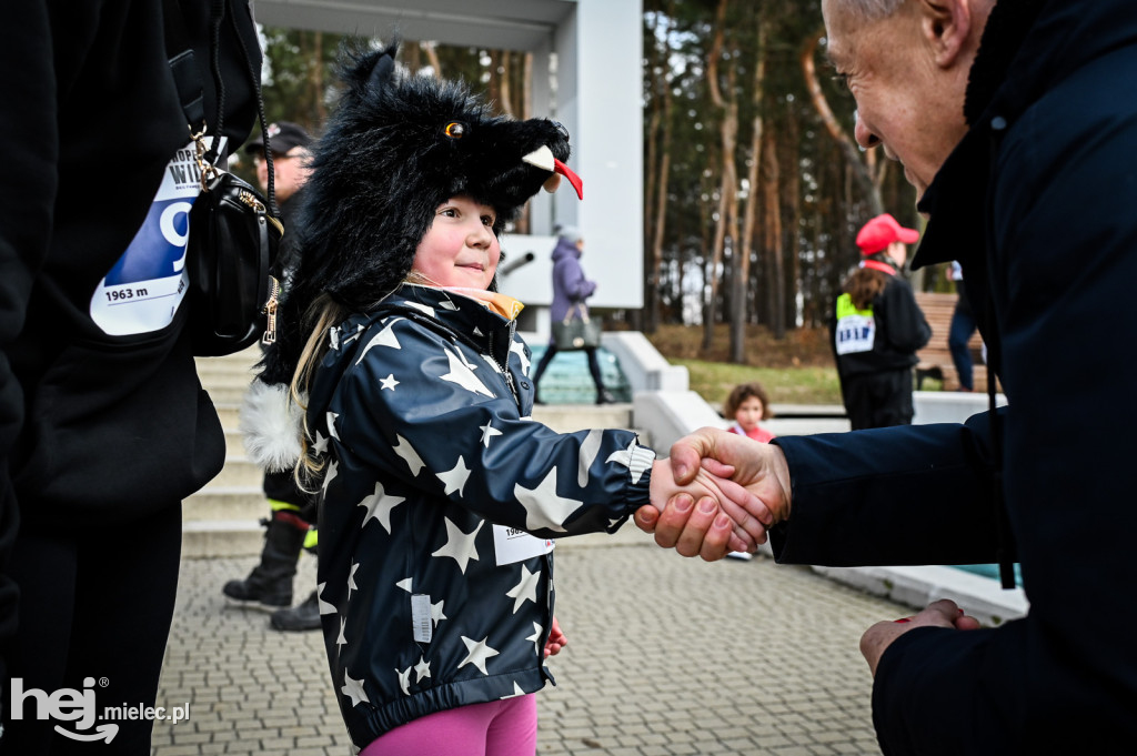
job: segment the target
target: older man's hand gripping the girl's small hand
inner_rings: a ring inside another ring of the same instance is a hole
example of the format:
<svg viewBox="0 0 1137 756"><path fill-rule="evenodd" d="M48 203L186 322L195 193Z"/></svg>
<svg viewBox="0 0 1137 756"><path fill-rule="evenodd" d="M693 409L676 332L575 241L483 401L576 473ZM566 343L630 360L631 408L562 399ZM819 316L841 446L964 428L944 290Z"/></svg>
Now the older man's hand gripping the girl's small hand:
<svg viewBox="0 0 1137 756"><path fill-rule="evenodd" d="M722 512L704 499L696 505L696 498L684 493L672 496L661 512L658 499L653 496L653 506L637 510L636 525L645 532L654 532L656 543L664 548L674 547L683 556L698 554L706 560L719 559L730 550L753 550L750 546L738 548L738 542L745 540L738 538L740 527L732 527L722 518L723 514L747 532L761 524L763 534L761 540L754 538L755 543L765 541L765 526L789 517L789 467L777 446L704 427L671 447L670 464L679 487L711 473L712 480L729 476L750 496L742 500L733 497L739 508L722 507Z"/></svg>

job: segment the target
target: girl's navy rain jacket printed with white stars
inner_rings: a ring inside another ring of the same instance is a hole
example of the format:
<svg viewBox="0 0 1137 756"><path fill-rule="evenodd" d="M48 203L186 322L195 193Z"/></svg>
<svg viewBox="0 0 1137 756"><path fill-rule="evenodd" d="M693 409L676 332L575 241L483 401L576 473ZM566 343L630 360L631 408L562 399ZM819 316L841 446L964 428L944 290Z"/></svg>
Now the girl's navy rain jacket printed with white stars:
<svg viewBox="0 0 1137 756"><path fill-rule="evenodd" d="M318 595L352 741L551 675L553 540L615 531L655 452L531 419L530 351L481 301L405 284L333 329L308 429Z"/></svg>

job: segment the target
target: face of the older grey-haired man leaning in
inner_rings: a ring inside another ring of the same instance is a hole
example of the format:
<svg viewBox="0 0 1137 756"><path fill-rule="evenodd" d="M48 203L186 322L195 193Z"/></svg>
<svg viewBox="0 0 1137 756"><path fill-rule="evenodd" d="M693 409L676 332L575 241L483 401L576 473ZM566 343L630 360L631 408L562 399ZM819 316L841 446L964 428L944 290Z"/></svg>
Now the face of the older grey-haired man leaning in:
<svg viewBox="0 0 1137 756"><path fill-rule="evenodd" d="M945 66L937 60L916 0L871 22L844 6L843 0L821 3L829 59L856 100L856 141L865 148L882 146L887 157L904 165L905 178L922 197L966 133L963 97L970 61Z"/></svg>

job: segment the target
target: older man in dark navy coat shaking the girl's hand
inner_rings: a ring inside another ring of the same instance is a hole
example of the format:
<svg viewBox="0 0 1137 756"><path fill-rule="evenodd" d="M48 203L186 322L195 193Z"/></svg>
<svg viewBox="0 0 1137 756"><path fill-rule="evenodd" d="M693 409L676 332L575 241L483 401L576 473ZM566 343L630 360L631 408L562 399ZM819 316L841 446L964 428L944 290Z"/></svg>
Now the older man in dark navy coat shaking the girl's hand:
<svg viewBox="0 0 1137 756"><path fill-rule="evenodd" d="M1010 406L772 446L705 429L673 464L733 464L775 513L779 562L1021 562L1022 620L977 629L937 601L864 634L886 754L1131 754L1137 358L1104 334L1137 281L1132 0L822 8L857 141L904 165L930 218L913 266L960 258ZM729 520L691 504L638 524L720 556Z"/></svg>

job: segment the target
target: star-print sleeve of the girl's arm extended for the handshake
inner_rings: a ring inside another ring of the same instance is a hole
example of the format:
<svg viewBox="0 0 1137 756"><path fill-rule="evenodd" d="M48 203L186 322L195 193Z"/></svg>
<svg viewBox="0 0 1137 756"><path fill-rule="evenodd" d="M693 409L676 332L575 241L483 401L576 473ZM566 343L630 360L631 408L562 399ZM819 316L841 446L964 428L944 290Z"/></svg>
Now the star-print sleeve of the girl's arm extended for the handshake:
<svg viewBox="0 0 1137 756"><path fill-rule="evenodd" d="M367 352L340 388L340 435L368 464L542 538L612 532L648 502L655 454L631 431L556 433L480 355L408 321L392 335L401 348Z"/></svg>

